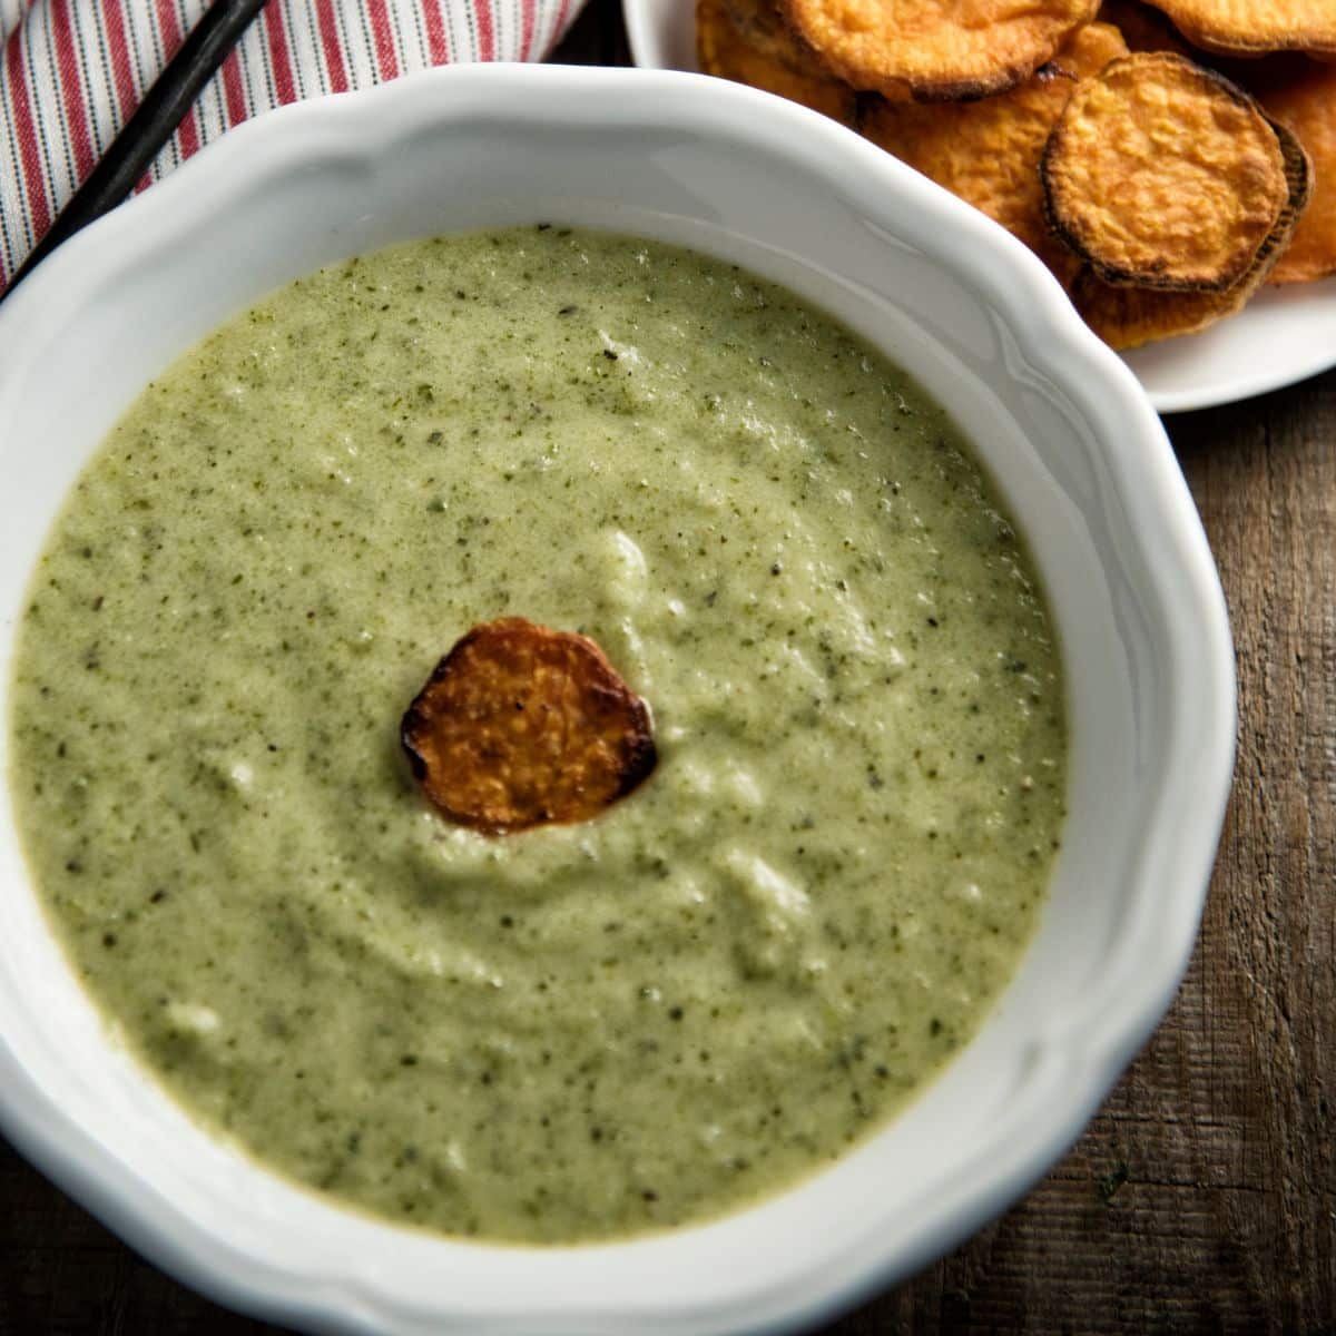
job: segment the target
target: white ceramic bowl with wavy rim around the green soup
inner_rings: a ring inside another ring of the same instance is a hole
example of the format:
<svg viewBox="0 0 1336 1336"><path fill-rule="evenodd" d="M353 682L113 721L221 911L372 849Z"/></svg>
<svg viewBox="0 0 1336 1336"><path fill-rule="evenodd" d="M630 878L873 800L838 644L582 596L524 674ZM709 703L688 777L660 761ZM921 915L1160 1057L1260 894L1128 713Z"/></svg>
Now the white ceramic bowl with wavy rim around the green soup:
<svg viewBox="0 0 1336 1336"><path fill-rule="evenodd" d="M0 669L65 489L164 363L326 262L538 219L788 285L977 442L1047 582L1073 724L1067 838L1014 985L902 1118L762 1206L616 1245L453 1242L342 1210L194 1128L77 989L5 803L0 1122L154 1261L291 1325L788 1331L923 1265L1067 1149L1173 995L1229 784L1229 632L1182 477L1132 374L1018 242L830 122L699 76L460 67L266 116L0 309Z"/></svg>

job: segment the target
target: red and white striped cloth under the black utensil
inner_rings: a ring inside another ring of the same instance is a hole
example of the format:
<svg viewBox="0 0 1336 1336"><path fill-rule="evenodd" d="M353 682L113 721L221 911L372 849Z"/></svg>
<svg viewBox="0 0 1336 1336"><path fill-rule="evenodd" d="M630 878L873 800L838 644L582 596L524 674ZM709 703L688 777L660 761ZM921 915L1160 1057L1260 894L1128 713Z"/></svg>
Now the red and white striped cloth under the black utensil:
<svg viewBox="0 0 1336 1336"><path fill-rule="evenodd" d="M269 0L139 190L270 107L456 60L541 60L580 0ZM0 0L0 291L208 0Z"/></svg>

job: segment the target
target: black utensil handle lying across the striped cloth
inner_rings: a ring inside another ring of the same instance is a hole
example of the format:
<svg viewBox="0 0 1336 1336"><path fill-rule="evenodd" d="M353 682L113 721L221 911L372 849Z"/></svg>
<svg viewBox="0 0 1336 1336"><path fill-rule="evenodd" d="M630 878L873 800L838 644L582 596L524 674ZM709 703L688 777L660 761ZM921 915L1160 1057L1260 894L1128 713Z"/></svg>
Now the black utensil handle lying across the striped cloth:
<svg viewBox="0 0 1336 1336"><path fill-rule="evenodd" d="M143 102L112 140L102 162L88 174L88 179L75 191L51 230L23 262L9 285L9 293L61 242L115 208L135 188L135 183L184 119L200 90L212 79L265 4L266 0L214 0L167 68L144 94Z"/></svg>

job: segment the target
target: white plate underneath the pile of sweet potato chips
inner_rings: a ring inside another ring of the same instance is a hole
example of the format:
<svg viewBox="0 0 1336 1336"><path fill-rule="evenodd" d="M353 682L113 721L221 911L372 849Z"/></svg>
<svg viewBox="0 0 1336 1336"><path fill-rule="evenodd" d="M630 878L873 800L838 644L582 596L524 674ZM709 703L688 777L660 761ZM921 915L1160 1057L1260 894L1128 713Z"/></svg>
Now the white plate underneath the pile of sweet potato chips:
<svg viewBox="0 0 1336 1336"><path fill-rule="evenodd" d="M699 69L693 0L621 0L643 69ZM1201 334L1124 354L1161 413L1206 409L1295 385L1336 366L1336 278L1268 287Z"/></svg>

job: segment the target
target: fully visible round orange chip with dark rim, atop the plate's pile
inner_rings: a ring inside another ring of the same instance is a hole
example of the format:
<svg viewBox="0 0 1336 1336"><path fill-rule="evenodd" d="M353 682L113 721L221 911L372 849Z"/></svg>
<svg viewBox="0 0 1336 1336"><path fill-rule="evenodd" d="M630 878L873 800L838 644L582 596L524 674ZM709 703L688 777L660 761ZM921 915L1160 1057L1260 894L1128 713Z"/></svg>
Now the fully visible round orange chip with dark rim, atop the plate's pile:
<svg viewBox="0 0 1336 1336"><path fill-rule="evenodd" d="M1253 99L1170 52L1082 81L1039 174L1050 226L1105 282L1169 291L1238 283L1289 199Z"/></svg>

